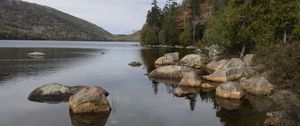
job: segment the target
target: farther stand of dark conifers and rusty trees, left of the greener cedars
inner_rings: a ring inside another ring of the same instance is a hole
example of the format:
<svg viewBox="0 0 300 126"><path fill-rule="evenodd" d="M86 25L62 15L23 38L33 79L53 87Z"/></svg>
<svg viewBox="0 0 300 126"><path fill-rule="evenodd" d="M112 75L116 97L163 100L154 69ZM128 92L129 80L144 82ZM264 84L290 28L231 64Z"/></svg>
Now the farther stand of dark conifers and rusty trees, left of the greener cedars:
<svg viewBox="0 0 300 126"><path fill-rule="evenodd" d="M187 46L201 40L204 30L199 19L201 1L184 0L179 4L175 0L168 0L161 9L154 0L141 30L141 43Z"/></svg>

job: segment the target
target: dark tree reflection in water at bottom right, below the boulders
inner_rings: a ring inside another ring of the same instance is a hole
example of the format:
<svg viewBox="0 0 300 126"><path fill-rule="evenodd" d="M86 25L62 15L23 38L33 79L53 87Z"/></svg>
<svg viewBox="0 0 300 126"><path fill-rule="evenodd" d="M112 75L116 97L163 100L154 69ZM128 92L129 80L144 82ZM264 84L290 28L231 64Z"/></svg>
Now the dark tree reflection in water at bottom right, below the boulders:
<svg viewBox="0 0 300 126"><path fill-rule="evenodd" d="M224 126L262 126L266 119L266 114L256 111L247 100L236 110L217 108L216 116Z"/></svg>

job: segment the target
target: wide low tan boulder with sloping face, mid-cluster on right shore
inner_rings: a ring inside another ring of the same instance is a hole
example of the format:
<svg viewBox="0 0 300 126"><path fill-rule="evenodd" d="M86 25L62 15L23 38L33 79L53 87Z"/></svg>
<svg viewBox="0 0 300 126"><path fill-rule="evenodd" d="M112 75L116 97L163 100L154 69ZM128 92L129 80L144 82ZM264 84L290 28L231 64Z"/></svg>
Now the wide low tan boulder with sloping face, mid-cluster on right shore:
<svg viewBox="0 0 300 126"><path fill-rule="evenodd" d="M242 77L243 71L239 68L229 68L225 70L218 70L214 73L203 76L205 80L213 81L213 82L226 82L236 80Z"/></svg>

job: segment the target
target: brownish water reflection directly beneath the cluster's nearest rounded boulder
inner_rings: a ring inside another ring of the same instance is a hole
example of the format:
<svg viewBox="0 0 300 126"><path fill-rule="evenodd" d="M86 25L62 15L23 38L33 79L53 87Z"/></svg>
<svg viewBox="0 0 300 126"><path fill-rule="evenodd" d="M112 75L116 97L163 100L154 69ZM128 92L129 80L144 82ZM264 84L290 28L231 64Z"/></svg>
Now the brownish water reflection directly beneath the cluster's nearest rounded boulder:
<svg viewBox="0 0 300 126"><path fill-rule="evenodd" d="M239 109L242 105L240 100L229 100L216 97L216 103L227 110Z"/></svg>

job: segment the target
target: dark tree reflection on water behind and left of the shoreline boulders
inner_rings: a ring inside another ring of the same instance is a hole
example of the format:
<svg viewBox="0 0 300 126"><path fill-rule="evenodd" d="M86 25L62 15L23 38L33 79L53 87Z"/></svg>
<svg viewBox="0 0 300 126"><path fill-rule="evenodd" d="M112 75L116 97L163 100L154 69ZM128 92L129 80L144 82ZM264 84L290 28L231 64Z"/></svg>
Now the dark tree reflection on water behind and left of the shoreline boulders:
<svg viewBox="0 0 300 126"><path fill-rule="evenodd" d="M163 56L165 53L179 52L180 56L191 53L193 50L188 49L170 49L170 48L147 48L141 49L141 58L145 65L147 72L150 73L155 69L154 62L157 58Z"/></svg>

